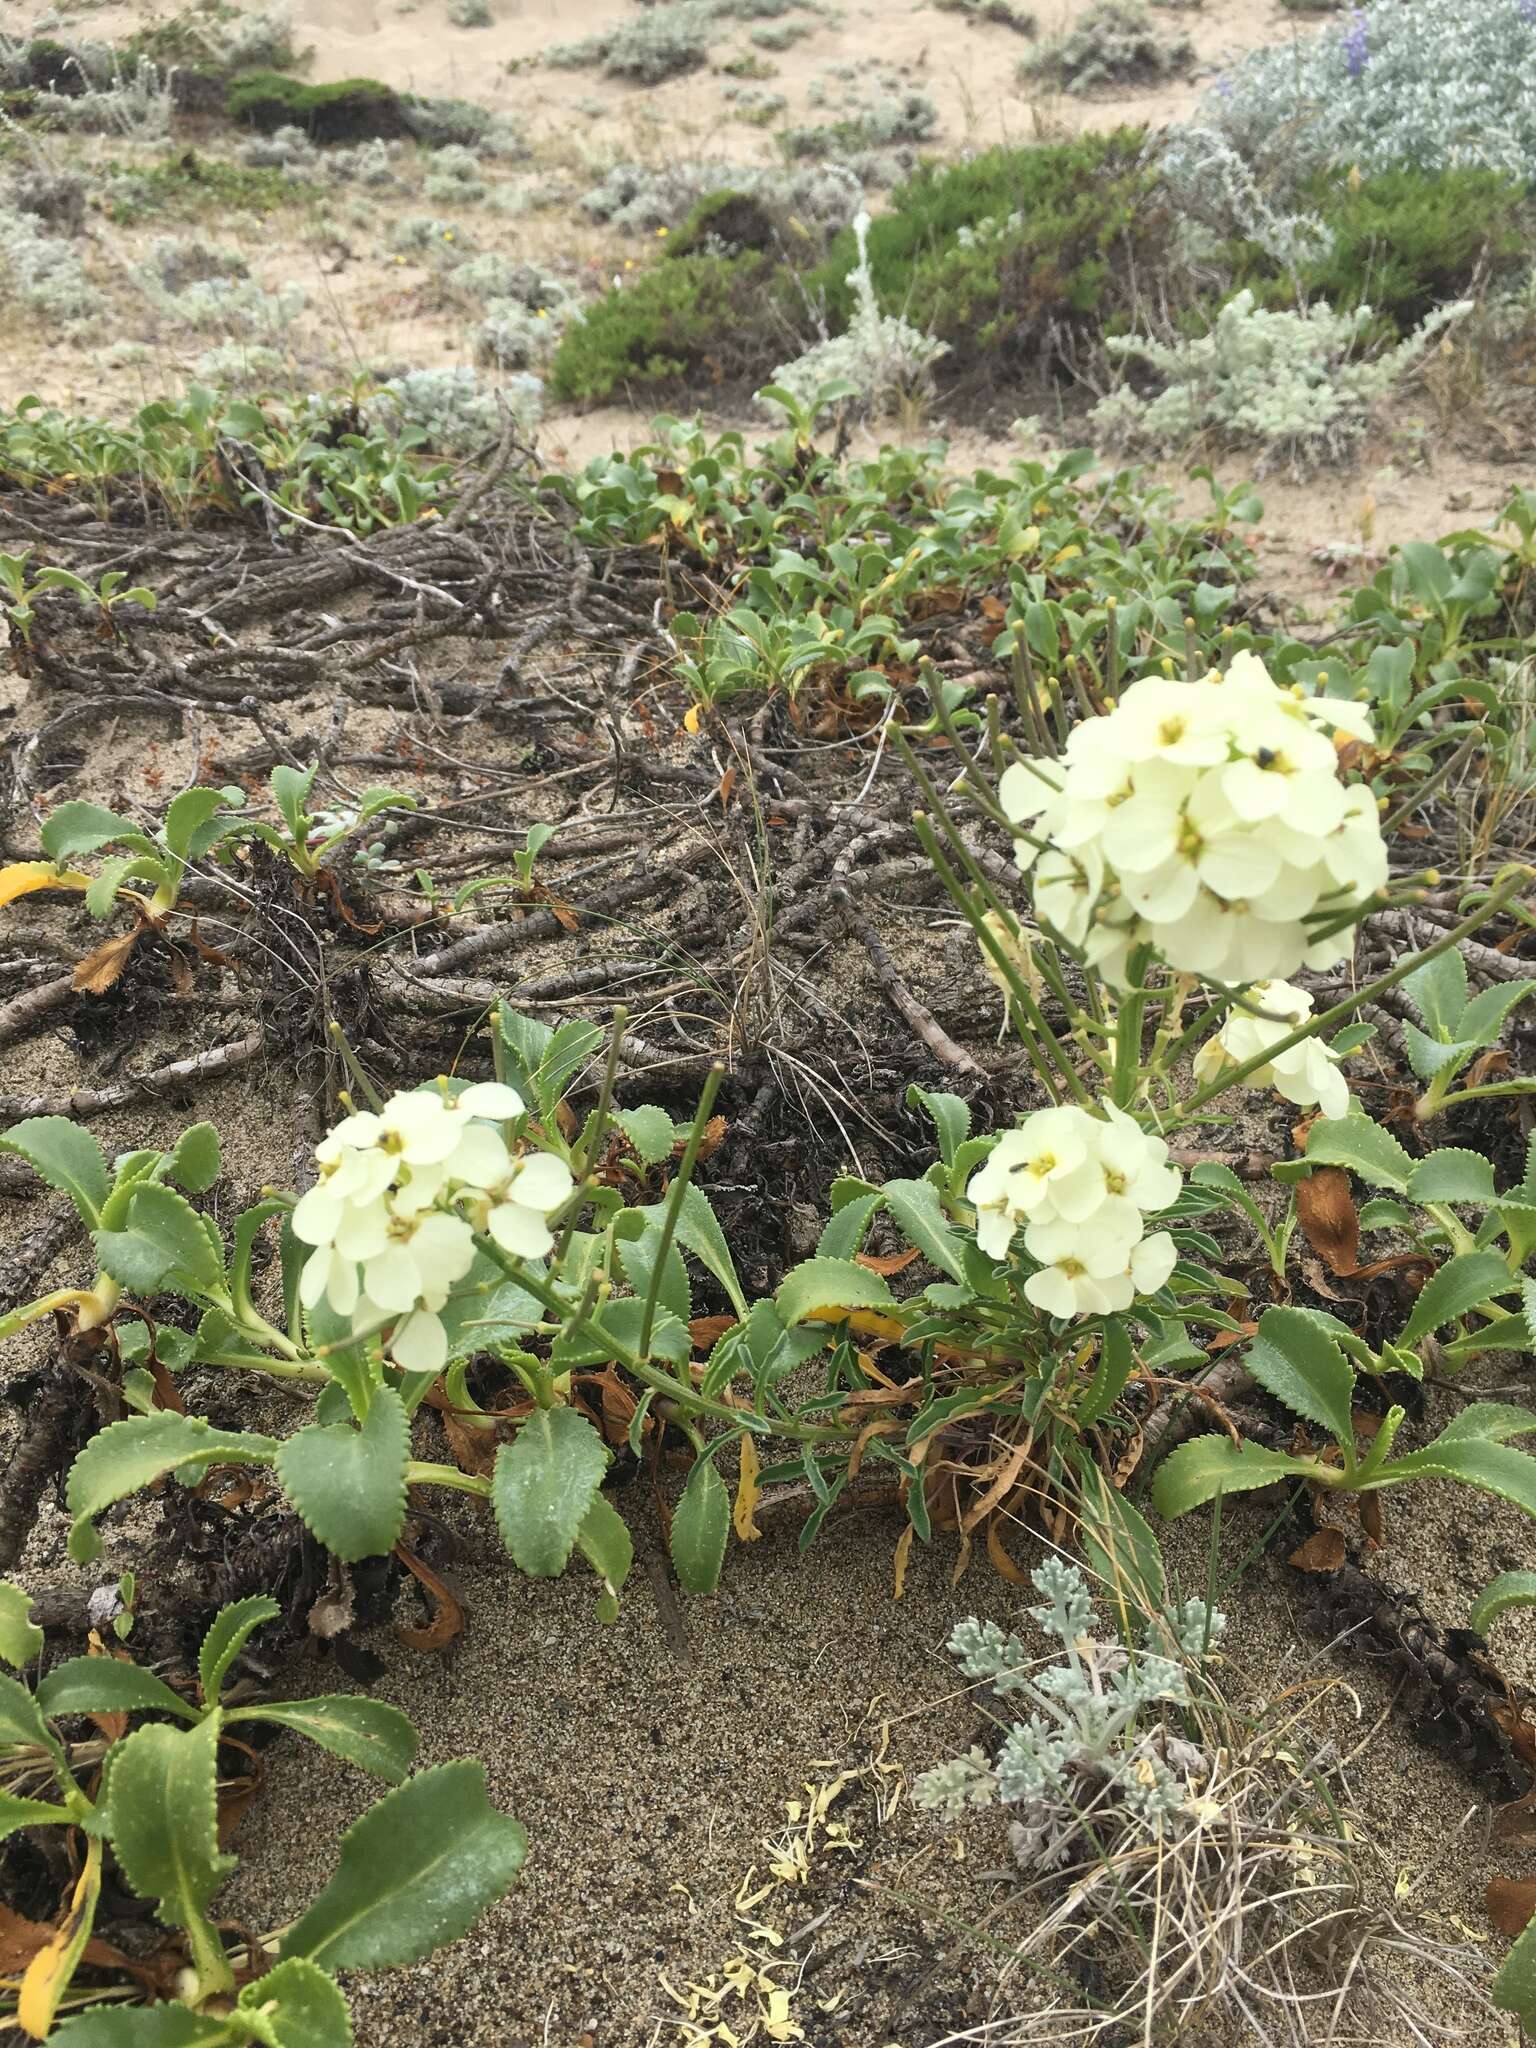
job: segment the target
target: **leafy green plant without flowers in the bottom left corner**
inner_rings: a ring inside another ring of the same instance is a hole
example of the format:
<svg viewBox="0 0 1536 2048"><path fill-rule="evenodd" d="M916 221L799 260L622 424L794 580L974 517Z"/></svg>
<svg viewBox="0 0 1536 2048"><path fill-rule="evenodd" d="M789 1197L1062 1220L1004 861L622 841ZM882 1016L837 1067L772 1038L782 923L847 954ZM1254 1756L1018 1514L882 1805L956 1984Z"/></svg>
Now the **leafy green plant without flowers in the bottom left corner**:
<svg viewBox="0 0 1536 2048"><path fill-rule="evenodd" d="M352 1696L229 1694L238 1657L276 1614L264 1593L221 1608L203 1636L190 1698L100 1642L55 1663L31 1690L0 1673L0 1837L57 1829L78 1870L59 1929L0 1993L0 2017L27 2040L350 2048L334 1972L418 1962L463 1935L514 1882L526 1835L485 1798L483 1767L442 1763L412 1778L416 1729L397 1708ZM0 1659L25 1669L41 1649L27 1593L0 1581ZM129 1716L131 1733L111 1733ZM242 1765L225 1743L252 1722L303 1735L393 1790L346 1831L336 1874L293 1925L231 1946L211 1919L236 1868L223 1849L219 1788ZM72 1733L86 1724L88 1735ZM154 1909L184 1954L164 2003L125 2005L127 1982L106 1993L76 1985L82 1962L100 1968L86 1950L109 1872ZM16 1931L27 1925L16 1919Z"/></svg>

